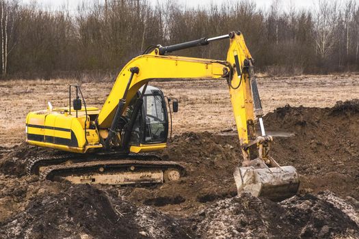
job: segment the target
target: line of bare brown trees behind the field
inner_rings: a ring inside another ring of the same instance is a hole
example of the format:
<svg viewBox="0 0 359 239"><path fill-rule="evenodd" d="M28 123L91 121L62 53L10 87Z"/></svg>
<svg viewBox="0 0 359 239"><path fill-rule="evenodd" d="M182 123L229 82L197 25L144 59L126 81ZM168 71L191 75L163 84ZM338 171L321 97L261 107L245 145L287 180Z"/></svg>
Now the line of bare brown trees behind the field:
<svg viewBox="0 0 359 239"><path fill-rule="evenodd" d="M118 72L149 45L176 44L240 30L256 69L269 74L323 74L359 70L359 4L319 0L297 9L274 0L226 1L184 8L176 1L83 2L45 10L36 3L1 0L2 78L51 78ZM178 55L226 59L228 41Z"/></svg>

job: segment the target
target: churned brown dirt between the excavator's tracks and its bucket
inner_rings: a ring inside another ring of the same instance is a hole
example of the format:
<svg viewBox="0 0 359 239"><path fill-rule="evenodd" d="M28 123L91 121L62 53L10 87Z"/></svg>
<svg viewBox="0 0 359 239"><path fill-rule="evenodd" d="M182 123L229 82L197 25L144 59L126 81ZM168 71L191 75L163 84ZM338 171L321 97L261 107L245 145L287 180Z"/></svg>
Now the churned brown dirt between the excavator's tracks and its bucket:
<svg viewBox="0 0 359 239"><path fill-rule="evenodd" d="M188 216L207 203L237 195L232 173L242 158L238 144L235 137L209 132L178 135L161 158L181 163L184 178L150 188L124 187L120 192L135 203Z"/></svg>

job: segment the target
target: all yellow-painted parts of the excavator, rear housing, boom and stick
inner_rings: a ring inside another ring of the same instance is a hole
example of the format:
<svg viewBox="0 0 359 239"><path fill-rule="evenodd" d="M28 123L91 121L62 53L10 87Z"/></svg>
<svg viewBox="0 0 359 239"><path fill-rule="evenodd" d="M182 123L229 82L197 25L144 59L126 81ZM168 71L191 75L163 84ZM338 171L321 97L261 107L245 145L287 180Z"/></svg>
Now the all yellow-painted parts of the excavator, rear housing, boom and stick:
<svg viewBox="0 0 359 239"><path fill-rule="evenodd" d="M235 66L235 56L238 57L239 66ZM103 142L109 134L109 128L114 121L114 115L118 108L118 102L125 97L125 104L121 112L124 113L131 99L135 97L139 89L149 81L174 80L183 81L191 79L220 79L227 78L230 100L232 102L235 122L241 143L248 143L254 139L253 129L248 122L254 122L254 108L248 74L238 73L242 69L245 59L252 59L242 34L233 34L230 38L227 60L200 59L194 57L178 57L172 55L159 55L154 51L135 57L122 68L112 87L105 104L100 111L94 107L88 107L86 120L85 111L78 111L78 117L68 107L53 109L52 111L34 111L27 115L27 142L40 147L51 147L68 152L85 153L100 150ZM133 77L127 88L131 68L139 68L139 72ZM96 127L90 127L96 119ZM86 122L86 124L85 124ZM91 129L96 128L96 129ZM120 141L120 135L116 135ZM102 139L102 140L101 140ZM166 143L130 145L129 152L150 152L163 149ZM244 151L243 151L244 153Z"/></svg>

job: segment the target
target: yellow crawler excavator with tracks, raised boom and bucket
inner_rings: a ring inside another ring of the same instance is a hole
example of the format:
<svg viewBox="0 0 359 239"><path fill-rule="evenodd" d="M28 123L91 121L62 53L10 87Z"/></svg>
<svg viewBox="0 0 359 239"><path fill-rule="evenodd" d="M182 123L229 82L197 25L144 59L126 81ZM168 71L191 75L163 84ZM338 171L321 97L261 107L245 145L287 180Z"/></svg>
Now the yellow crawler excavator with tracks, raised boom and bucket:
<svg viewBox="0 0 359 239"><path fill-rule="evenodd" d="M230 41L226 61L168 55L224 39ZM183 177L185 169L179 163L148 154L166 147L172 121L170 100L167 108L161 90L148 85L153 79L168 84L175 79L226 79L243 153L241 167L234 172L238 193L269 199L297 193L295 168L281 167L269 156L273 138L265 132L253 59L240 31L150 46L122 68L101 110L88 107L80 87L70 85L68 107L53 108L49 103L46 110L30 112L26 119L27 143L70 153L31 158L28 172L47 180L89 184L153 184ZM178 110L175 99L172 110Z"/></svg>

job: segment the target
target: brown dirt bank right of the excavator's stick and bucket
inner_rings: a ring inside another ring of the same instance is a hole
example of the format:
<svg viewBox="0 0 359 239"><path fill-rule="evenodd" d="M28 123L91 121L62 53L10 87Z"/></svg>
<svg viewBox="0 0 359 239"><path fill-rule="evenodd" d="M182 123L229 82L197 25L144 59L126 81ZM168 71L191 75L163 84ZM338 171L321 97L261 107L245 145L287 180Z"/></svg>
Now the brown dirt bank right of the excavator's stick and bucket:
<svg viewBox="0 0 359 239"><path fill-rule="evenodd" d="M282 107L265 116L267 128L293 132L275 138L271 155L301 174L301 190L330 189L359 199L359 100L332 108Z"/></svg>

